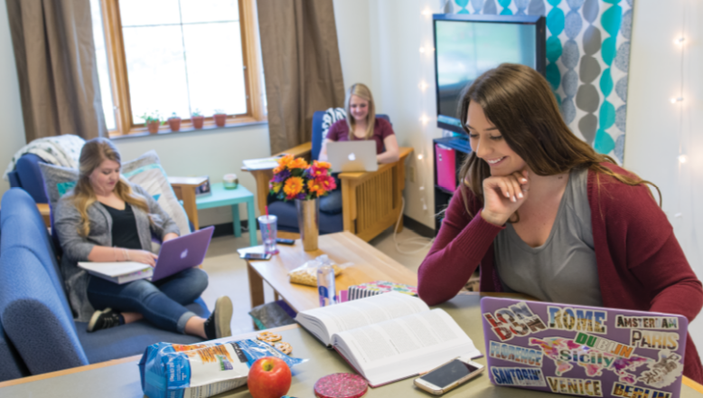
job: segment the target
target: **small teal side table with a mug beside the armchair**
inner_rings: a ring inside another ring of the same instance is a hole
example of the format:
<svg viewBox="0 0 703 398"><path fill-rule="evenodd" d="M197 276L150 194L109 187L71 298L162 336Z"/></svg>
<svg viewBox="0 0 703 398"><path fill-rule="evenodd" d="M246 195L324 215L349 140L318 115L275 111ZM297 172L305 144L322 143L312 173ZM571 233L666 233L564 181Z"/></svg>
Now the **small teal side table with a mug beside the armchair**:
<svg viewBox="0 0 703 398"><path fill-rule="evenodd" d="M258 245L257 240L257 215L254 213L254 194L247 188L239 184L237 189L225 189L222 183L212 184L211 193L207 196L199 196L195 199L198 210L210 209L211 207L232 206L232 224L234 226L234 236L241 236L241 223L239 222L239 204L247 205L247 217L249 225L249 242L252 246Z"/></svg>

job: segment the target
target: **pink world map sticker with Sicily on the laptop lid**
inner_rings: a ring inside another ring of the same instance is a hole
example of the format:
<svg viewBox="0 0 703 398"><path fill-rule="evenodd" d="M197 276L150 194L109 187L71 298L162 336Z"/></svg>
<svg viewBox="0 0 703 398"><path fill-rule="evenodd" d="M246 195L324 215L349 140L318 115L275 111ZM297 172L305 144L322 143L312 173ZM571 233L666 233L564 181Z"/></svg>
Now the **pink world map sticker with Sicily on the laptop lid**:
<svg viewBox="0 0 703 398"><path fill-rule="evenodd" d="M635 384L635 375L628 372L634 372L639 366L651 362L650 358L639 355L626 358L605 353L565 337L531 337L530 346L542 348L544 355L554 361L557 368L555 374L558 376L570 371L574 365L579 365L589 377L600 376L606 369L616 374L621 383Z"/></svg>

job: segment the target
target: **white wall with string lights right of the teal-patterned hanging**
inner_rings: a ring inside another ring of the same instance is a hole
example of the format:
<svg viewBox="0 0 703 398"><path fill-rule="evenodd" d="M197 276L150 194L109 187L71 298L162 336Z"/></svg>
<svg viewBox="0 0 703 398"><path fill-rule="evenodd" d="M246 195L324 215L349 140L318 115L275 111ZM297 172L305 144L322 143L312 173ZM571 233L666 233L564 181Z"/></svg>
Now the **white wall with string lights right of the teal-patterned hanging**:
<svg viewBox="0 0 703 398"><path fill-rule="evenodd" d="M624 156L624 166L660 187L664 212L699 280L703 280L702 23L700 2L634 5ZM681 34L685 36L682 95L681 47L674 43ZM683 102L670 103L680 96ZM689 161L681 164L680 153ZM689 331L698 352L703 352L701 315Z"/></svg>

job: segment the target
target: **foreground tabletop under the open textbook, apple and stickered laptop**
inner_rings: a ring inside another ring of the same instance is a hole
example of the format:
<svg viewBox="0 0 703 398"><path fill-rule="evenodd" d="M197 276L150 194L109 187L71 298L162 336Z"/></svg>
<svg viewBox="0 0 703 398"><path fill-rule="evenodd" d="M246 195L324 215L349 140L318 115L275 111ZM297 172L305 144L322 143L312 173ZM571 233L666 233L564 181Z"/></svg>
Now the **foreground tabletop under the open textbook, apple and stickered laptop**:
<svg viewBox="0 0 703 398"><path fill-rule="evenodd" d="M481 309L477 293L460 295L447 301L436 308L444 308L446 312L455 318L456 323L464 329L472 339L474 344L482 353L485 353L483 346L483 327L480 321ZM273 330L273 329L272 329ZM310 361L297 365L293 368L293 384L291 384L288 395L295 397L311 397L314 383L323 375L337 372L352 372L352 368L333 350L325 348L314 336L310 335L296 325L276 329L283 339L293 346L293 355L300 358L309 358ZM225 341L241 338L251 338L252 334L223 339ZM54 372L52 374L42 374L33 377L13 380L0 383L0 395L6 397L15 396L52 396L53 398L75 398L83 396L99 396L104 398L130 398L142 397L142 388L137 368L139 357L112 361L105 364L81 366L74 369ZM485 365L485 358L476 359L477 362ZM417 397L429 398L432 395L418 390L413 385L414 378L408 378L399 382L384 385L379 388L370 388L364 398L386 398L386 397ZM681 387L682 398L703 397L703 386L684 377ZM492 385L486 374L482 374L471 382L464 384L455 390L445 393L445 398L458 397L493 397L493 398L517 398L517 397L544 397L554 398L558 395L553 393L542 393L528 391L510 387L498 387ZM237 397L250 398L247 386L239 387L236 390L221 393L218 398Z"/></svg>

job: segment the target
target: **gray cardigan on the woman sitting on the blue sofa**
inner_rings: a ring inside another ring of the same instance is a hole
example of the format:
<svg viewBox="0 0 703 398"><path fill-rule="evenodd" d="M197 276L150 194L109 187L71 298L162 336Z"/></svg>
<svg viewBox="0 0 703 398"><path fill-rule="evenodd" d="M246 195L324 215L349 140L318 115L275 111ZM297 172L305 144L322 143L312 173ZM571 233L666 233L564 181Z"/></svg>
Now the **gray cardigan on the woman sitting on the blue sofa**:
<svg viewBox="0 0 703 398"><path fill-rule="evenodd" d="M164 212L164 209L156 203L154 198L147 194L144 188L139 185L132 185L135 194L141 195L149 205L149 214L136 206L132 206L136 219L136 232L139 235L139 242L145 251L155 252L152 247L151 232L162 239L167 233L179 233L176 223ZM88 255L93 247L112 247L112 217L108 211L98 202L90 204L88 217L90 220L90 233L84 237L79 233L80 213L73 205L73 191L63 195L56 204L56 211L53 214L54 227L61 242L63 257L61 258L61 276L69 296L70 308L73 317L80 322L88 322L95 309L88 300L88 271L78 267L78 261L88 261ZM153 225L149 224L151 216Z"/></svg>

